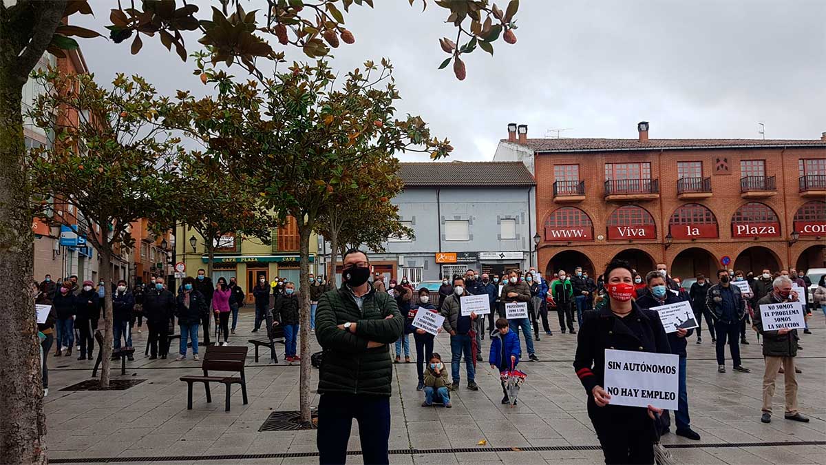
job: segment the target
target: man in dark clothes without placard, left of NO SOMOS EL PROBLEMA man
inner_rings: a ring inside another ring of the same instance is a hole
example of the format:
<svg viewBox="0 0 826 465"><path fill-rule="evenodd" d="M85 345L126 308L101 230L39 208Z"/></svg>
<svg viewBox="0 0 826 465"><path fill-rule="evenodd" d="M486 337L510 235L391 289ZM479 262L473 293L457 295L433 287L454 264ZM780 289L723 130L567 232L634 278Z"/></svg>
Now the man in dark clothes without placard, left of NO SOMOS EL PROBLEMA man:
<svg viewBox="0 0 826 465"><path fill-rule="evenodd" d="M734 371L748 373L748 368L740 364L740 320L746 314L746 303L736 285L729 282L729 271L717 271L718 284L710 287L705 295L705 306L714 317L714 333L717 335L717 372L725 372L725 343L729 341L729 351L734 362Z"/></svg>

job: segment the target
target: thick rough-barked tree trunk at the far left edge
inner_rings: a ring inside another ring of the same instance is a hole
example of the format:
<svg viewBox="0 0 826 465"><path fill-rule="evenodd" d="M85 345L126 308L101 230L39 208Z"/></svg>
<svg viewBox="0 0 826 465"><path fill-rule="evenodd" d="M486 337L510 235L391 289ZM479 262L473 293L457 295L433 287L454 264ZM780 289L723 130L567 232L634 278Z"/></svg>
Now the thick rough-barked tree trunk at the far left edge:
<svg viewBox="0 0 826 465"><path fill-rule="evenodd" d="M18 70L7 66L7 50L0 54L5 55L0 61L0 463L46 463L40 344L31 294L34 234L31 212L24 208L31 196L22 84L12 76Z"/></svg>

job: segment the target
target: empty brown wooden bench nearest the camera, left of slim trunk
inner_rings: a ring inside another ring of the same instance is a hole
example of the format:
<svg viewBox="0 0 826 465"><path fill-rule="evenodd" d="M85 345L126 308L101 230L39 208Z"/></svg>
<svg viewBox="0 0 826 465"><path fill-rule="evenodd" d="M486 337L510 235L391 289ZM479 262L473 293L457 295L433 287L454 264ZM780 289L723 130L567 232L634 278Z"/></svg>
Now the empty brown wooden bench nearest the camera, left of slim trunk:
<svg viewBox="0 0 826 465"><path fill-rule="evenodd" d="M247 404L247 380L244 377L244 362L247 358L246 346L207 346L207 352L204 354L204 361L202 363L203 376L181 376L181 381L187 383L187 409L192 410L192 383L204 383L204 389L207 391L207 403L212 401L212 395L209 390L209 383L221 383L226 388L226 405L225 411L230 411L230 388L234 384L241 385L241 394L244 396L244 405ZM236 376L210 376L209 371L217 372L236 372L240 373L240 377Z"/></svg>

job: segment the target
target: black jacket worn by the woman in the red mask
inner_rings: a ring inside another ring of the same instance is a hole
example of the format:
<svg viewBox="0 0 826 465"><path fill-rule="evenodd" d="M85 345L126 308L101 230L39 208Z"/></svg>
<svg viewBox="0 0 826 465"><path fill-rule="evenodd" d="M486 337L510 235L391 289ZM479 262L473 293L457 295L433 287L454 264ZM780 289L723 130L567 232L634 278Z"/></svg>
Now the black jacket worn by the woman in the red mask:
<svg viewBox="0 0 826 465"><path fill-rule="evenodd" d="M594 386L605 386L605 349L634 352L671 353L665 329L657 312L631 304L631 313L623 319L605 308L582 314L577 336L577 355L573 369L592 402Z"/></svg>

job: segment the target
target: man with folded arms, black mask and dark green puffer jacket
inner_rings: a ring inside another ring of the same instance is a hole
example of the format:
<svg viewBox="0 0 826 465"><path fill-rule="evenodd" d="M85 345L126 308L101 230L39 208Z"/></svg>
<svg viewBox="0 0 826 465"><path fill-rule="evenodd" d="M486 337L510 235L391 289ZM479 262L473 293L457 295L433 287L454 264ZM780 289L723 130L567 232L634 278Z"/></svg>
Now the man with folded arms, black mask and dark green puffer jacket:
<svg viewBox="0 0 826 465"><path fill-rule="evenodd" d="M364 463L388 463L392 363L389 344L401 338L405 319L396 300L368 283L367 254L344 254L338 290L321 295L316 338L324 349L319 370L319 461L345 463L350 426L358 420Z"/></svg>

